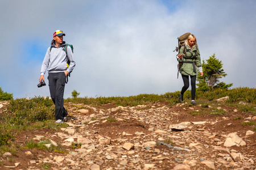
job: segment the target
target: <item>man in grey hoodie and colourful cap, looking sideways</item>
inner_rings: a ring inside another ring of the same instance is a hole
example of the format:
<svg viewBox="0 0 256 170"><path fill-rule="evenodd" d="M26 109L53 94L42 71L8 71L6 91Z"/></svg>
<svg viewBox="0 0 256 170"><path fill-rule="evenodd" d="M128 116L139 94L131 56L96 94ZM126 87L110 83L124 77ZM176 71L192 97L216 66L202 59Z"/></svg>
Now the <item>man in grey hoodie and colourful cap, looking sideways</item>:
<svg viewBox="0 0 256 170"><path fill-rule="evenodd" d="M53 33L53 40L44 57L39 78L41 83L48 69L49 91L55 104L56 123L63 123L67 120L68 112L64 108L63 98L64 88L68 74L76 66L72 49L63 41L63 36L65 33L60 30ZM68 61L70 61L69 66L67 65Z"/></svg>

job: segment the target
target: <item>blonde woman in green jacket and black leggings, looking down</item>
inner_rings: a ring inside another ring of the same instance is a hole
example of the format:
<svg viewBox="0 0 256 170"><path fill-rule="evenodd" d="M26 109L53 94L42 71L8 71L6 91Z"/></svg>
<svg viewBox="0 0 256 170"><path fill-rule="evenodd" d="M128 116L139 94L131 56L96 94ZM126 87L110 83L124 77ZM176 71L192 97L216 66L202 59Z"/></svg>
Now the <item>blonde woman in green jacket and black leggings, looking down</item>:
<svg viewBox="0 0 256 170"><path fill-rule="evenodd" d="M179 100L183 102L183 94L189 87L189 76L191 78L191 103L196 105L196 75L203 76L200 52L197 47L196 36L189 35L187 42L181 46L177 59L181 64L179 72L182 76L184 86L181 89Z"/></svg>

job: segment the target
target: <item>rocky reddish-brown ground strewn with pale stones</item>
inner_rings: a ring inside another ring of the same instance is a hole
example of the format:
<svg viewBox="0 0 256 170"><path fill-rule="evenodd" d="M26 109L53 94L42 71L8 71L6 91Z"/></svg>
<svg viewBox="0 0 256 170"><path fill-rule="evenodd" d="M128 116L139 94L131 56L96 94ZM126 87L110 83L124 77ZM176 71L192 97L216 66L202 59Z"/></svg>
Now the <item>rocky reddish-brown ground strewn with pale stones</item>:
<svg viewBox="0 0 256 170"><path fill-rule="evenodd" d="M256 133L253 126L241 125L256 122L256 117L217 103L208 107L226 113L193 116L204 108L167 102L136 107L66 103L67 128L24 131L15 141L24 146L26 140L49 138L66 154L38 149L6 152L0 156L0 168L256 169Z"/></svg>

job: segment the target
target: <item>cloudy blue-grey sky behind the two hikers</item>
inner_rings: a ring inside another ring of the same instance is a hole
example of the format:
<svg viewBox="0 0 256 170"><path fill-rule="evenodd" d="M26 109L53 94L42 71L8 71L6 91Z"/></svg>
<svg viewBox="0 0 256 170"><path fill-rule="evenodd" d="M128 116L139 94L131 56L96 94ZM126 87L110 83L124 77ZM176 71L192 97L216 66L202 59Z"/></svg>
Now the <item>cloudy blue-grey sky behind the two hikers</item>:
<svg viewBox="0 0 256 170"><path fill-rule="evenodd" d="M77 62L64 97L180 91L177 37L197 37L201 59L213 53L233 87L255 88L256 1L1 1L0 87L14 98L49 96L40 68L56 29ZM46 75L47 76L47 75ZM48 82L46 82L48 84Z"/></svg>

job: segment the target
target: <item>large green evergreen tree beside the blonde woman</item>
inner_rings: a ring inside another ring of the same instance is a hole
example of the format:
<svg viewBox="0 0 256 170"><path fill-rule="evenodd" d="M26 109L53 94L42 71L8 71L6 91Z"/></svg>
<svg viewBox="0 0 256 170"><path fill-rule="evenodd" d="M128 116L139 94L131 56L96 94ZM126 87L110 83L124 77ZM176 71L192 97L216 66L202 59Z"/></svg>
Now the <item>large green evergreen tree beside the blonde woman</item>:
<svg viewBox="0 0 256 170"><path fill-rule="evenodd" d="M199 81L199 83L196 84L198 86L197 90L209 91L214 88L227 90L231 87L233 83L226 84L224 82L220 82L222 77L228 75L225 73L224 69L222 69L222 66L222 62L216 58L215 53L206 61L203 60L202 67L204 75L197 76L197 80Z"/></svg>

